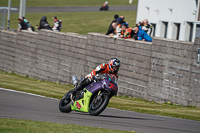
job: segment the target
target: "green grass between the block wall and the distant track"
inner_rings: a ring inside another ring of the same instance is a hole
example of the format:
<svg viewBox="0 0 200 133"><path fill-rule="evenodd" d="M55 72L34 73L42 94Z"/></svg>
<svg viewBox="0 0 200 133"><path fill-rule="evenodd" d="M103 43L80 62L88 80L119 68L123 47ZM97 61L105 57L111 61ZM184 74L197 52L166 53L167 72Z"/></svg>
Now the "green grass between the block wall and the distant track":
<svg viewBox="0 0 200 133"><path fill-rule="evenodd" d="M126 22L133 27L136 22L136 11L109 11L109 12L65 12L65 13L27 13L26 18L35 27L42 16L53 26L53 16L62 20L62 32L74 32L86 35L88 32L106 33L114 15L125 16ZM18 28L18 13L11 14L10 28Z"/></svg>

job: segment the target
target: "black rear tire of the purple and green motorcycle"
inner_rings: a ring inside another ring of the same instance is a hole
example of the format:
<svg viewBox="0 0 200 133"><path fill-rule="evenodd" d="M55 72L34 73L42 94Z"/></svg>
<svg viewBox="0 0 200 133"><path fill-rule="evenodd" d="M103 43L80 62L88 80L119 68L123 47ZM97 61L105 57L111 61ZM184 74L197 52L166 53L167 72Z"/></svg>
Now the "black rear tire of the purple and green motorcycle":
<svg viewBox="0 0 200 133"><path fill-rule="evenodd" d="M67 92L59 102L59 110L62 113L69 113L72 111L71 110L72 101L71 99L66 98L69 94L70 92Z"/></svg>

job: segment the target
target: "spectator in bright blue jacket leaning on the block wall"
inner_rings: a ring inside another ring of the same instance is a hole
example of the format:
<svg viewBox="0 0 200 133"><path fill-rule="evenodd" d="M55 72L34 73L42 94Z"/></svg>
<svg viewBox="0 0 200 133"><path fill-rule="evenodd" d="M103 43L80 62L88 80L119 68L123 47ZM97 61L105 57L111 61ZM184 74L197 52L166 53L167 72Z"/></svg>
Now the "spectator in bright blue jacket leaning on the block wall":
<svg viewBox="0 0 200 133"><path fill-rule="evenodd" d="M138 40L152 42L151 37L144 30L142 30L141 26L136 25L134 30L138 36Z"/></svg>

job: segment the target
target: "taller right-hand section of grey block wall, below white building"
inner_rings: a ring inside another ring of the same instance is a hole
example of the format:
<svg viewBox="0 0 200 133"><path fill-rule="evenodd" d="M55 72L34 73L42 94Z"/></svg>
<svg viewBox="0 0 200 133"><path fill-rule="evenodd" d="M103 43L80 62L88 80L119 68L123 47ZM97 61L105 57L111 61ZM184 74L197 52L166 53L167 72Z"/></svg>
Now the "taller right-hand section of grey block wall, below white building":
<svg viewBox="0 0 200 133"><path fill-rule="evenodd" d="M197 47L200 45L189 42L153 40L148 93L151 97L199 106Z"/></svg>

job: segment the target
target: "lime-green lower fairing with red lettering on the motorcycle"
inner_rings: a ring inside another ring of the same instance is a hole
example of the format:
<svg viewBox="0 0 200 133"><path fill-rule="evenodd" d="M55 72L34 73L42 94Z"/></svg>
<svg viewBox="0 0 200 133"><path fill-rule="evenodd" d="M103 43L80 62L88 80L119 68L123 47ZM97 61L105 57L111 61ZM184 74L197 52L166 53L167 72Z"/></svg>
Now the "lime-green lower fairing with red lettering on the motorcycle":
<svg viewBox="0 0 200 133"><path fill-rule="evenodd" d="M84 92L84 97L82 99L74 101L74 103L71 104L71 110L89 112L89 104L90 104L90 99L92 97L92 93L85 88L83 90L86 91Z"/></svg>

